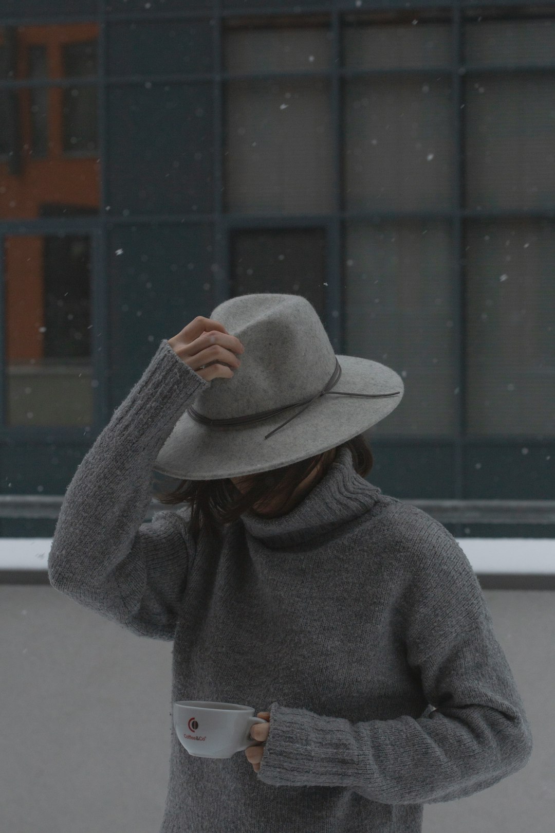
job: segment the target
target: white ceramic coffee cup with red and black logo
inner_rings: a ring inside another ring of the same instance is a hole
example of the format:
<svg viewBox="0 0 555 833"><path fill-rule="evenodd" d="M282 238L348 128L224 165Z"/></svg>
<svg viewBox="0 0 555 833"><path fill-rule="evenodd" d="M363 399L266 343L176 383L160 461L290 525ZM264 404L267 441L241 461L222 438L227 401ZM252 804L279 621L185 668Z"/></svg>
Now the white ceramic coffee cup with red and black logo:
<svg viewBox="0 0 555 833"><path fill-rule="evenodd" d="M200 758L230 758L260 741L250 737L250 726L267 723L255 710L238 703L179 700L173 704L173 726L181 746Z"/></svg>

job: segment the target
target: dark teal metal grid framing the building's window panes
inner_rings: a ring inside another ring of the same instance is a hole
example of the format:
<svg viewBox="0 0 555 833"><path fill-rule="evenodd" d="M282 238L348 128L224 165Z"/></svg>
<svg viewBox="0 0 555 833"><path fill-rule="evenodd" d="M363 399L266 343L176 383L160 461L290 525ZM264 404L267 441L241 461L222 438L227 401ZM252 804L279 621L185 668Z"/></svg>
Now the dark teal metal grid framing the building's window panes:
<svg viewBox="0 0 555 833"><path fill-rule="evenodd" d="M4 237L15 234L47 234L59 232L88 232L92 237L92 369L95 377L98 379L98 387L96 389L95 409L93 425L87 430L81 427L57 427L57 426L4 426L0 424L0 442L8 444L13 442L26 441L35 444L52 443L52 441L63 441L65 443L75 443L87 447L90 445L92 436L97 436L102 427L107 423L110 413L111 405L109 402L107 377L108 377L108 357L109 357L109 321L107 314L107 232L118 225L141 223L204 223L210 222L214 232L214 251L216 253L216 262L221 265L218 272L215 273L215 292L213 301L215 305L223 302L227 297L227 285L225 276L230 273L230 235L237 229L248 228L285 228L285 227L325 227L328 236L328 290L326 293L326 317L330 322L329 336L330 342L334 347L335 352L344 352L344 304L342 303L342 268L341 268L341 251L343 245L344 222L353 220L368 220L370 222L379 222L387 219L399 219L402 217L421 217L424 219L444 219L452 223L453 239L455 241L455 248L453 252L453 307L454 307L454 337L458 342L458 377L456 384L461 392L458 397L458 425L455 436L450 438L448 444L455 450L455 471L453 493L458 498L461 505L458 509L453 505L451 508L451 517L453 521L457 517L459 511L458 521L463 522L464 508L462 504L469 505L469 501L463 501L463 461L467 446L472 445L477 441L475 437L467 436L465 431L465 365L466 358L464 354L464 317L463 309L465 303L465 282L463 275L463 222L466 219L479 218L481 220L497 219L502 217L542 217L553 219L555 218L555 205L549 209L534 209L527 211L518 210L468 210L463 207L463 192L464 192L464 165L463 165L463 127L464 127L464 109L463 109L463 77L471 72L480 72L481 74L487 72L508 72L508 68L498 66L479 66L473 67L463 65L463 10L465 8L479 7L483 5L477 2L461 2L461 0L451 0L449 3L445 2L425 2L423 7L426 11L437 8L445 12L447 9L451 14L452 23L452 37L453 37L453 62L449 67L439 69L432 68L389 68L379 70L354 70L345 69L341 67L341 34L342 34L342 17L345 14L352 16L353 14L371 12L377 9L387 8L389 11L398 9L399 12L406 12L406 4L404 2L379 2L376 0L374 4L369 6L365 4L364 10L358 7L355 2L341 3L338 0L323 4L319 7L255 7L255 8L237 8L228 9L223 7L222 0L215 0L212 8L189 10L186 12L161 12L157 9L152 9L149 12L126 12L114 13L107 12L108 0L99 0L97 4L96 17L91 15L37 15L34 17L0 17L0 26L24 26L30 24L54 24L54 23L69 23L69 22L97 22L99 24L98 36L98 72L97 77L77 77L77 78L62 78L52 82L45 83L40 79L22 79L22 80L0 80L0 90L13 90L19 87L41 87L41 86L60 86L60 87L77 87L90 86L94 84L98 88L98 128L99 128L99 155L102 160L100 172L100 207L97 217L72 217L72 218L37 218L37 219L21 219L21 220L2 220L0 219L0 288L3 286L3 250ZM488 7L497 6L503 9L506 14L503 14L503 19L511 17L511 7L518 5L519 7L537 6L526 0L526 2L513 2L513 0L490 0ZM415 9L414 14L418 15L419 10ZM330 20L330 29L332 32L332 50L333 57L331 68L326 71L310 71L310 72L255 72L249 74L243 73L229 73L224 72L222 66L222 39L225 28L225 21L230 17L246 17L253 15L255 17L272 17L278 14L287 14L290 17L313 17L315 15L324 14ZM212 73L181 73L171 75L151 75L151 74L137 74L133 76L110 76L107 74L107 37L109 37L109 26L112 22L154 22L160 20L185 20L185 21L213 21L213 46L215 55L214 72ZM543 65L529 65L518 66L518 72L545 72L555 71L555 63ZM455 152L458 158L458 176L456 177L455 186L455 204L452 209L448 211L424 211L424 212L403 212L403 211L389 211L389 212L360 212L360 211L345 211L343 204L343 182L342 182L342 152L343 152L343 127L341 122L342 114L342 96L343 96L343 81L350 77L368 77L373 75L389 75L398 72L404 74L437 74L437 72L450 72L452 77L452 95L453 95L453 132L455 137ZM243 215L243 214L226 214L223 205L223 144L224 144L224 89L225 82L238 78L269 78L269 77L328 77L331 85L331 115L332 123L334 125L334 200L335 211L322 215L295 215L295 216L281 216L273 214L261 215ZM213 183L214 183L214 212L207 214L128 214L127 216L115 217L107 215L105 207L107 205L107 157L109 148L107 145L107 91L111 86L121 85L142 85L146 82L151 84L166 84L170 82L207 82L212 84L213 104L214 104L214 140L216 152L214 156L213 167ZM334 309L339 309L339 317L333 317L331 312ZM3 292L0 291L0 320L3 321ZM3 402L5 401L4 391L4 367L3 355L0 355L0 413L3 413ZM488 436L479 437L480 443L487 443L488 445L508 445L511 446L518 442L526 442L533 446L543 444L546 439L538 439L536 436L521 436L504 437L504 436ZM384 436L380 441L393 441L399 446L413 446L419 443L437 441L429 436ZM442 439L442 442L445 442ZM412 501L417 502L417 501ZM425 501L421 501L425 502ZM453 501L439 501L445 506ZM491 501L471 501L473 503L487 503ZM495 502L495 501L493 501ZM511 501L504 501L507 505ZM523 504L528 503L532 510L532 504L536 501L521 501ZM545 501L540 501L545 502ZM431 503L438 504L438 501L431 501ZM431 505L431 504L430 504ZM521 509L524 507L521 506ZM483 507L485 511L485 507ZM551 513L553 514L553 512ZM487 517L484 514L483 517ZM549 515L551 517L551 515ZM536 522L536 521L534 521ZM540 521L541 522L541 521ZM546 521L543 521L546 522Z"/></svg>

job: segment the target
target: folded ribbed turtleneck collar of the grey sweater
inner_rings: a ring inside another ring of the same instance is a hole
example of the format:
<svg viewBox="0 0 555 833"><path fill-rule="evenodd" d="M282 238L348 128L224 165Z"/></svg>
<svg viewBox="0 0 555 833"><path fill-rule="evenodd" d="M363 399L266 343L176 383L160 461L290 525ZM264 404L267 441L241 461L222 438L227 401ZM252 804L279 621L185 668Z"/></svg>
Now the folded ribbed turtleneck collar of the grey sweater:
<svg viewBox="0 0 555 833"><path fill-rule="evenodd" d="M355 471L349 448L342 447L322 480L290 512L264 518L247 511L241 520L247 533L265 546L285 548L354 521L374 506L379 494L379 488Z"/></svg>

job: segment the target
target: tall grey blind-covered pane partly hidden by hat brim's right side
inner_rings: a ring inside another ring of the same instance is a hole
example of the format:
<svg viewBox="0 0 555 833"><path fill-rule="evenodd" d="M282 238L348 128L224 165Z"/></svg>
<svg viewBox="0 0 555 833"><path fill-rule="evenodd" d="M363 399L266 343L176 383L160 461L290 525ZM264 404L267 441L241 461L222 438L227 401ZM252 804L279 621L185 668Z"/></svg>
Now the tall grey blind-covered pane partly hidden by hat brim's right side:
<svg viewBox="0 0 555 833"><path fill-rule="evenodd" d="M383 362L404 381L401 405L374 436L453 436L451 232L444 222L349 223L345 235L345 353Z"/></svg>

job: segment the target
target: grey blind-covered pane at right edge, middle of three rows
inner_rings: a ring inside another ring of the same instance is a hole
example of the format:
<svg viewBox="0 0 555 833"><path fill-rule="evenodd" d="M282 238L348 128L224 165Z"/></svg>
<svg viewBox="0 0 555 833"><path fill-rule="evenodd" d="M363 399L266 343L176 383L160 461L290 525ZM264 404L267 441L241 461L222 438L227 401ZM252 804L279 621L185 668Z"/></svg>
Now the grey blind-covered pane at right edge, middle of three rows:
<svg viewBox="0 0 555 833"><path fill-rule="evenodd" d="M468 208L555 203L555 73L466 78Z"/></svg>

